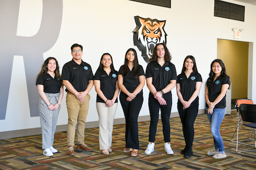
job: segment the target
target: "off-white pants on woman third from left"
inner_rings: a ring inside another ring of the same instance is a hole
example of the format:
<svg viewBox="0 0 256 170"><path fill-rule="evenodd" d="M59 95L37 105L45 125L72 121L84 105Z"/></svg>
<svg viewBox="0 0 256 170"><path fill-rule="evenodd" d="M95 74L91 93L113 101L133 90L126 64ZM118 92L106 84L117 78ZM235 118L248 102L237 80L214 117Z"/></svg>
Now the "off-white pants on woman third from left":
<svg viewBox="0 0 256 170"><path fill-rule="evenodd" d="M105 103L96 102L96 107L98 111L100 150L106 150L112 145L112 131L117 103L114 103L112 107L106 107Z"/></svg>

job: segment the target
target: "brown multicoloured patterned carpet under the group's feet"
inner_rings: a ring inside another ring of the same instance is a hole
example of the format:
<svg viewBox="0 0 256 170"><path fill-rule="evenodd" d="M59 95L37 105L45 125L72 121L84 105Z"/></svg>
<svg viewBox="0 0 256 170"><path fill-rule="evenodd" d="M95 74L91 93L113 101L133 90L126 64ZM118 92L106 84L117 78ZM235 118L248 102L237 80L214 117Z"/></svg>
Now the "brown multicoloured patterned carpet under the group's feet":
<svg viewBox="0 0 256 170"><path fill-rule="evenodd" d="M149 121L139 122L139 142L141 150L132 157L123 153L125 147L125 125L115 125L113 130L113 152L103 155L98 146L98 128L85 129L86 144L93 152L75 150L75 156L67 155L67 133L56 133L55 148L59 151L52 157L44 156L41 135L5 139L0 141L0 169L256 169L256 152L236 153L236 143L230 138L237 124L237 114L226 115L221 125L226 159L212 159L207 151L213 150L206 114L200 114L195 122L193 156L185 159L180 151L184 148L184 138L180 118L171 118L171 147L174 155L164 152L162 123L159 121L155 151L144 154L148 144ZM241 141L249 137L250 131L241 130ZM254 142L254 141L253 141ZM252 142L252 143L253 143ZM240 146L241 150L252 149Z"/></svg>

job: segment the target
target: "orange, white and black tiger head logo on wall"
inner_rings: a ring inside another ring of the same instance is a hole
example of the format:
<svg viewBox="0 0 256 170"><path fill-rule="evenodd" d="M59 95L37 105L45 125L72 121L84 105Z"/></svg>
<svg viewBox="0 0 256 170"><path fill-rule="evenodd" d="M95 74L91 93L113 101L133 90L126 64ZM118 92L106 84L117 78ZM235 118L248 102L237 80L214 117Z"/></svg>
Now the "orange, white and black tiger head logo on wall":
<svg viewBox="0 0 256 170"><path fill-rule="evenodd" d="M156 44L166 44L166 32L164 25L166 20L157 20L150 18L141 18L134 16L136 28L133 33L134 45L142 52L142 57L148 63L150 56L153 54L153 49Z"/></svg>

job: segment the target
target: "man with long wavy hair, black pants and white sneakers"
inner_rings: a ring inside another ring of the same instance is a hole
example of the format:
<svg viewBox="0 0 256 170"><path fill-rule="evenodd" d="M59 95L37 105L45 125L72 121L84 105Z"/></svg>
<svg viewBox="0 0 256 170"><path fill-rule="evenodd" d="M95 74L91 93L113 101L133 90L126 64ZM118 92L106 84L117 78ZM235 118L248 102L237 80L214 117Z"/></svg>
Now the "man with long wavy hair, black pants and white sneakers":
<svg viewBox="0 0 256 170"><path fill-rule="evenodd" d="M172 108L171 90L176 85L177 74L171 54L164 43L156 44L150 63L146 69L146 82L150 90L148 107L150 110L149 143L145 154L151 154L155 147L155 135L159 119L159 109L163 124L164 150L168 155L174 154L171 148L170 115Z"/></svg>

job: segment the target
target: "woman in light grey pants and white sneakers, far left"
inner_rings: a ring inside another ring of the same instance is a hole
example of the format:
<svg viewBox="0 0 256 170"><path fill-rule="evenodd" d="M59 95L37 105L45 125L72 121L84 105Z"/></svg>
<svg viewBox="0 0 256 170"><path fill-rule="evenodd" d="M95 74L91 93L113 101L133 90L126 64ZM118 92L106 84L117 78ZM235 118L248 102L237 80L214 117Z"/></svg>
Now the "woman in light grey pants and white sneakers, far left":
<svg viewBox="0 0 256 170"><path fill-rule="evenodd" d="M64 92L56 58L49 57L44 61L40 73L36 76L36 86L40 95L39 112L43 154L53 156L53 153L57 152L53 148L53 142Z"/></svg>

